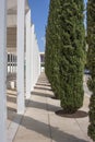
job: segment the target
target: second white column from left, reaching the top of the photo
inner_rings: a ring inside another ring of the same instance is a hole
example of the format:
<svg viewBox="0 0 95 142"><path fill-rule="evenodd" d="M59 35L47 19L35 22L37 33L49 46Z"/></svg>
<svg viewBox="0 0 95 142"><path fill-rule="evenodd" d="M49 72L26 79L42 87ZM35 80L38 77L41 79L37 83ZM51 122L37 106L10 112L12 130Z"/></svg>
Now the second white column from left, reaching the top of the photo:
<svg viewBox="0 0 95 142"><path fill-rule="evenodd" d="M17 0L17 114L24 114L24 16L25 0Z"/></svg>

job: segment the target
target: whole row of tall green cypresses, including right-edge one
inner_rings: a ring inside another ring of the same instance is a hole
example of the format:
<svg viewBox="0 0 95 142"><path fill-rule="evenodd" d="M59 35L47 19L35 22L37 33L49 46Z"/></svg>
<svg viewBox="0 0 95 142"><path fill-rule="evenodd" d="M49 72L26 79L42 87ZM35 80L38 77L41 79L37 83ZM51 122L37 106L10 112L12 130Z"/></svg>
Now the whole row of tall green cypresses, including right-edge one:
<svg viewBox="0 0 95 142"><path fill-rule="evenodd" d="M83 0L50 0L46 28L45 71L61 107L68 114L83 105L85 31ZM88 135L95 140L95 1L87 3L87 66L90 103Z"/></svg>

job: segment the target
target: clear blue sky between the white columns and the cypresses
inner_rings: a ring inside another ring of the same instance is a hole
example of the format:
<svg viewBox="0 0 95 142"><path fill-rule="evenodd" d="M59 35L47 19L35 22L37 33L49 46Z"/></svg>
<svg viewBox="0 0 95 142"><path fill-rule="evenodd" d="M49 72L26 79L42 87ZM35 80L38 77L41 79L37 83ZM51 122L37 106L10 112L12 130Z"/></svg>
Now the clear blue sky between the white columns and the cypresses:
<svg viewBox="0 0 95 142"><path fill-rule="evenodd" d="M50 0L28 0L32 10L32 22L38 40L39 51L45 51L45 33ZM86 3L87 0L84 0Z"/></svg>

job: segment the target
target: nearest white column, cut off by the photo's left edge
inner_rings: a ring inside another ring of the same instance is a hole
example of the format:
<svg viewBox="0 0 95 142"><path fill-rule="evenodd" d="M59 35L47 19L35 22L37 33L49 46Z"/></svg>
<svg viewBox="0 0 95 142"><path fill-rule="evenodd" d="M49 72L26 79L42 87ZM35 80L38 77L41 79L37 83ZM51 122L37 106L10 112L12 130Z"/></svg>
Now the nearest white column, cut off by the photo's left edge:
<svg viewBox="0 0 95 142"><path fill-rule="evenodd" d="M7 0L0 0L0 142L7 142Z"/></svg>

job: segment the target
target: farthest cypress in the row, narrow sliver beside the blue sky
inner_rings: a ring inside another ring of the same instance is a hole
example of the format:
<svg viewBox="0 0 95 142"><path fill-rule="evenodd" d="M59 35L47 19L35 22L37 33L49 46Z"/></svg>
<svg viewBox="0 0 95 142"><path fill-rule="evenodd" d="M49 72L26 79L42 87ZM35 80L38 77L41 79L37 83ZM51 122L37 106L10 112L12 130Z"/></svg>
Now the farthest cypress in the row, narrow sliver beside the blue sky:
<svg viewBox="0 0 95 142"><path fill-rule="evenodd" d="M46 51L45 51L45 72L51 83L51 62L52 62L52 11L54 11L54 4L52 1L50 1L49 5L49 16L48 16L48 24L46 28Z"/></svg>

